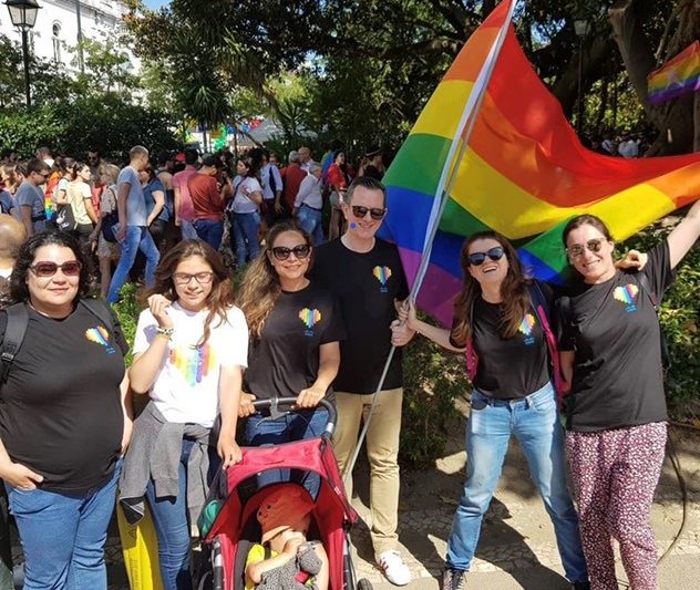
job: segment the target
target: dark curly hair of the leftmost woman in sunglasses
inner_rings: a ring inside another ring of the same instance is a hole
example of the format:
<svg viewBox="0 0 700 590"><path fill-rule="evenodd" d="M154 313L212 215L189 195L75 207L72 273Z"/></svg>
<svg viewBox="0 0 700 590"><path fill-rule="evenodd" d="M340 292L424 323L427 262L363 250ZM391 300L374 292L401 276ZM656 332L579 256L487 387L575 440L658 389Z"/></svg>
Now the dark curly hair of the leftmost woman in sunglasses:
<svg viewBox="0 0 700 590"><path fill-rule="evenodd" d="M92 259L72 235L65 231L47 230L41 231L40 234L34 234L24 244L22 244L22 246L20 246L17 260L14 261L14 269L12 270L12 275L10 277L10 289L2 297L2 307L19 302L25 303L29 301L27 273L29 272L29 267L34 263L37 250L44 246L60 246L73 250L75 260L81 263L80 283L78 286L75 301L87 296L92 276Z"/></svg>

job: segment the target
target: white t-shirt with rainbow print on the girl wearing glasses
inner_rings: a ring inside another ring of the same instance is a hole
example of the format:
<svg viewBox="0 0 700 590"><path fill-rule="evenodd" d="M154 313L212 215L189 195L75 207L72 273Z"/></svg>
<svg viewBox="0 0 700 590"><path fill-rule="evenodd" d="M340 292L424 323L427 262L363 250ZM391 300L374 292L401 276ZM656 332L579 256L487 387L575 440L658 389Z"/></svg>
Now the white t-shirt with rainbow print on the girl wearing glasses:
<svg viewBox="0 0 700 590"><path fill-rule="evenodd" d="M222 368L248 365L248 324L240 309L227 312L227 321L215 318L207 342L196 348L204 333L208 311L186 311L177 302L167 313L175 333L168 342L161 372L151 390L151 398L168 422L194 423L212 427L219 412ZM145 352L156 338L158 322L150 310L138 317L134 354Z"/></svg>

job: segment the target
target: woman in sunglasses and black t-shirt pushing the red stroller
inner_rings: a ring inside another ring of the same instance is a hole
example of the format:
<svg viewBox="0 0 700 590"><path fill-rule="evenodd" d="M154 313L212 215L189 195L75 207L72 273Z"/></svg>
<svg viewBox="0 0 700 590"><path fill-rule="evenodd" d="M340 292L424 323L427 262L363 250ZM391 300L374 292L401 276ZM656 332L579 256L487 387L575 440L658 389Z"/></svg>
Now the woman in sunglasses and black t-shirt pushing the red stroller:
<svg viewBox="0 0 700 590"><path fill-rule="evenodd" d="M294 220L272 226L260 256L246 271L238 304L250 331L248 369L239 415L248 416L246 444L278 445L320 436L333 401L344 327L336 298L306 278L313 260L309 235ZM301 408L266 421L254 400L296 397ZM310 486L316 496L318 483Z"/></svg>

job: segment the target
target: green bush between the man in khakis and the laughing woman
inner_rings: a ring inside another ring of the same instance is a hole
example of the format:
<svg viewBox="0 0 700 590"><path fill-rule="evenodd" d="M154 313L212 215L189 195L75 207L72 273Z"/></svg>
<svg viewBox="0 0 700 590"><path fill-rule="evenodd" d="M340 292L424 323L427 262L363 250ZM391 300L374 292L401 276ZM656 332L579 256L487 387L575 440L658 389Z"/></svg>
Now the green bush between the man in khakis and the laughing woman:
<svg viewBox="0 0 700 590"><path fill-rule="evenodd" d="M431 321L422 317L424 321ZM416 335L404 348L401 464L419 469L434 466L444 454L447 425L460 420L455 400L470 391L464 356L444 352Z"/></svg>

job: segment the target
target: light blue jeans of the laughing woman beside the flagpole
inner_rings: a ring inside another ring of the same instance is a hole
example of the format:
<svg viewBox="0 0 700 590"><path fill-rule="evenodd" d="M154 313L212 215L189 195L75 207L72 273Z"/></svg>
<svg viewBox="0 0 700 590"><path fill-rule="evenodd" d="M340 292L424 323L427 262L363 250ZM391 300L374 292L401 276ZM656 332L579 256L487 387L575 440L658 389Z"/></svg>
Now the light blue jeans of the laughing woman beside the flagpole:
<svg viewBox="0 0 700 590"><path fill-rule="evenodd" d="M518 439L529 475L542 496L570 582L588 579L578 515L566 486L564 433L550 384L523 400L501 401L472 393L466 428L466 482L447 540L446 566L466 571L481 524L501 477L511 435Z"/></svg>

